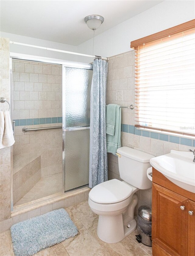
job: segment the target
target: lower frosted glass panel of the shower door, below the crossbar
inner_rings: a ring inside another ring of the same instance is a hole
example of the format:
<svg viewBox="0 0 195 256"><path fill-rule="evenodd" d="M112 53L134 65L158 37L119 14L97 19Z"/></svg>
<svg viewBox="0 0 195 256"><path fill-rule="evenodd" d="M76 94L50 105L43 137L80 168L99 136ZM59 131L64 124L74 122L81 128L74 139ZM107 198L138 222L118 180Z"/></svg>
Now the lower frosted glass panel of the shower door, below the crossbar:
<svg viewBox="0 0 195 256"><path fill-rule="evenodd" d="M65 191L89 183L90 130L66 131Z"/></svg>

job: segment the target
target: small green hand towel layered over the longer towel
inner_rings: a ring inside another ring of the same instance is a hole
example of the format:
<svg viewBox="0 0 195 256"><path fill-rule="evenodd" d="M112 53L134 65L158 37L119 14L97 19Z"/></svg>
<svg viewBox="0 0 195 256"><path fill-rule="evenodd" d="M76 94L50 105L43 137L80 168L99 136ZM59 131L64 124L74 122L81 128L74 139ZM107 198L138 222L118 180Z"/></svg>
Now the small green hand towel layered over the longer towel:
<svg viewBox="0 0 195 256"><path fill-rule="evenodd" d="M106 106L106 133L110 135L115 134L116 106L117 104Z"/></svg>

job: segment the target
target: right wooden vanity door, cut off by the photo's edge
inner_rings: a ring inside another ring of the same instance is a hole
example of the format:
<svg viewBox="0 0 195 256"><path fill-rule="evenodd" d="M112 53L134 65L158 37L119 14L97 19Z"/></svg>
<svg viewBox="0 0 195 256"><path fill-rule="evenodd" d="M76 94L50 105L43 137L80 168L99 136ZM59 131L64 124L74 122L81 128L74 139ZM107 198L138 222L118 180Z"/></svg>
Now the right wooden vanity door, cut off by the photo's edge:
<svg viewBox="0 0 195 256"><path fill-rule="evenodd" d="M195 202L189 200L188 210L193 211L193 215L188 213L188 256L195 255Z"/></svg>

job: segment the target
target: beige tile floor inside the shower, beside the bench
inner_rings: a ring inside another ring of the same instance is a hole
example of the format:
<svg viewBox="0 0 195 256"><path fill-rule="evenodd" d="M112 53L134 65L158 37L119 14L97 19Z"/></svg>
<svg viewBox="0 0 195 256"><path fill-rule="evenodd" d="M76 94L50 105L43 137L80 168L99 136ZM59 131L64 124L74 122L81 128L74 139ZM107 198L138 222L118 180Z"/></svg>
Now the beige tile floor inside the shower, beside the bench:
<svg viewBox="0 0 195 256"><path fill-rule="evenodd" d="M41 178L14 206L62 192L62 173Z"/></svg>

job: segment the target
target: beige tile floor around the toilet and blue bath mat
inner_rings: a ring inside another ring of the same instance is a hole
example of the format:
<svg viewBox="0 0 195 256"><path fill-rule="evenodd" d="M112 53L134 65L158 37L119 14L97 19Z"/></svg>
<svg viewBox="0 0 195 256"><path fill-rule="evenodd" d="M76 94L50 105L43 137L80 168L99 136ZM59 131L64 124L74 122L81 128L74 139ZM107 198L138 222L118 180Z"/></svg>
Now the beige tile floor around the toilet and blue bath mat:
<svg viewBox="0 0 195 256"><path fill-rule="evenodd" d="M138 244L133 232L119 243L105 243L97 236L98 216L94 214L87 201L66 208L70 218L77 226L79 233L62 243L46 248L36 256L148 256L152 255L151 247ZM0 236L0 255L14 256L10 231Z"/></svg>

